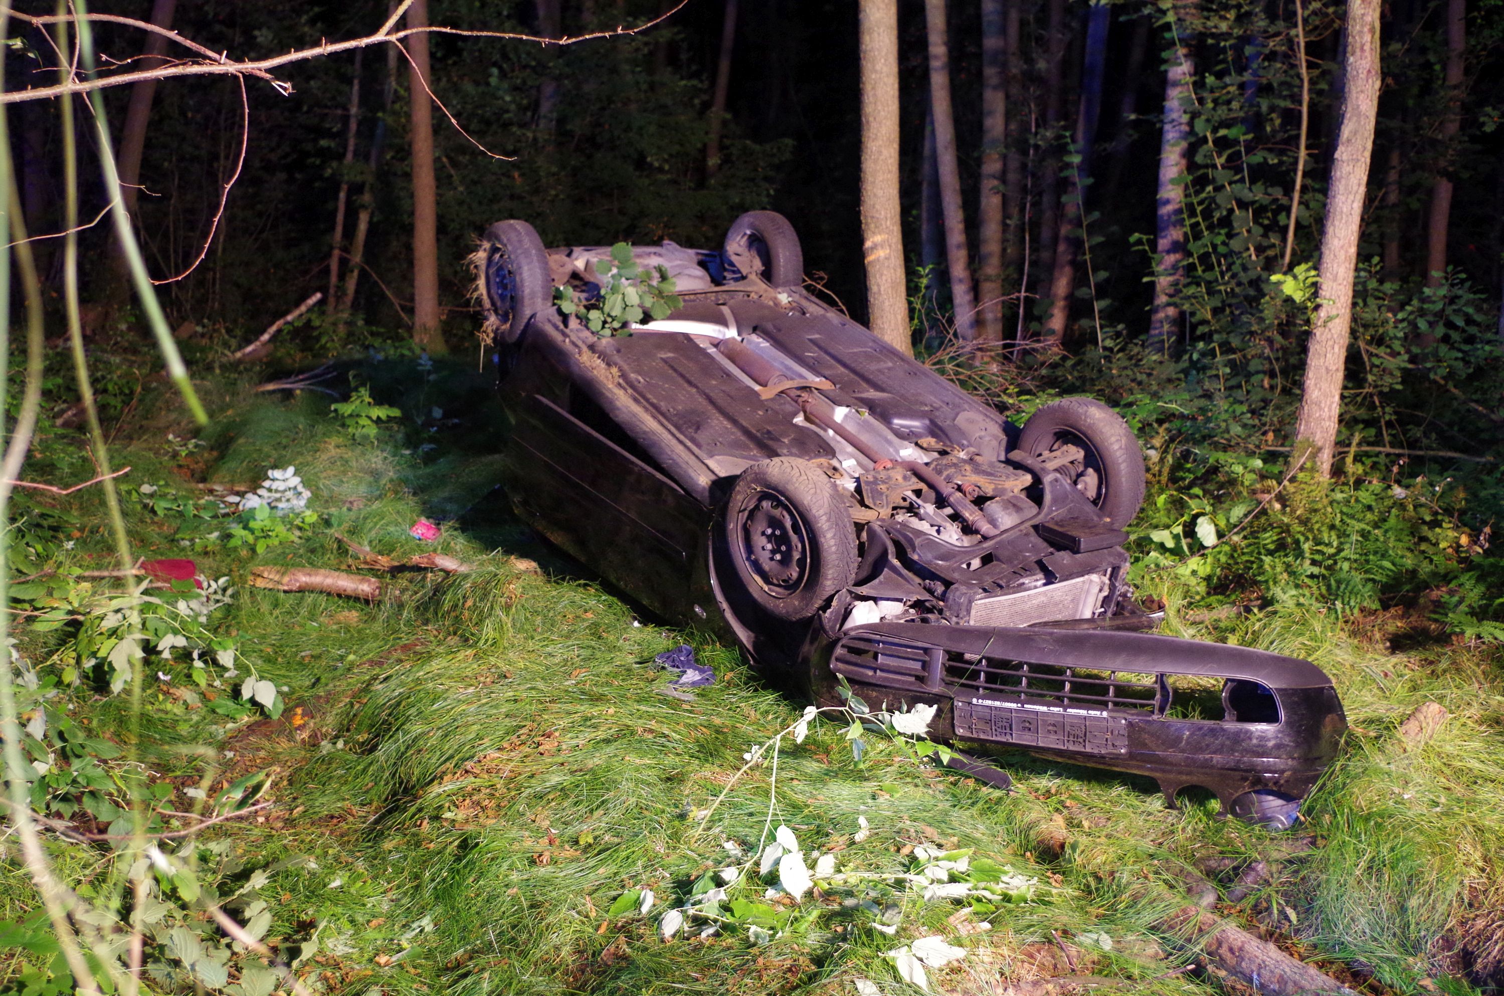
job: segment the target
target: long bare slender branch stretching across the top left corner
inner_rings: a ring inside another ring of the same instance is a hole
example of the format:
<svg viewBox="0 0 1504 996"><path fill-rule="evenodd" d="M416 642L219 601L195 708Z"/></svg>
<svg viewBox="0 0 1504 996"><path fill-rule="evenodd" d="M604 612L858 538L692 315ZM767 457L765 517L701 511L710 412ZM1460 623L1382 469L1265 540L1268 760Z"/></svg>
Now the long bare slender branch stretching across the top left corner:
<svg viewBox="0 0 1504 996"><path fill-rule="evenodd" d="M253 77L266 80L284 96L292 93L292 84L277 80L271 75L271 69L280 66L293 65L298 62L307 62L310 59L317 59L320 56L335 56L344 51L355 51L356 48L367 48L370 45L385 45L390 42L402 41L409 35L430 33L430 35L453 35L456 38L495 38L502 41L522 41L522 42L537 42L540 45L578 45L579 42L593 41L597 38L623 38L639 35L650 27L662 24L668 18L674 17L680 9L683 9L689 0L680 0L671 11L645 21L638 27L617 27L605 32L588 32L585 35L566 36L566 38L540 38L537 35L523 35L520 32L487 32L480 29L459 29L459 27L444 27L444 26L429 26L429 27L408 27L399 32L388 32L384 35L365 35L362 38L352 38L343 42L322 44L311 48L298 48L283 56L272 56L269 59L254 59L245 62L236 62L229 59L226 54L214 56L209 53L209 60L188 60L174 66L162 66L158 69L143 69L138 72L120 72L110 77L96 77L92 80L74 80L69 83L60 83L57 86L33 87L27 90L12 90L0 95L0 104L18 104L23 101L42 101L51 99L54 96L63 96L66 93L89 93L92 90L101 90L104 87L113 86L128 86L140 80L168 80L173 77L196 77L196 75L239 75L250 74ZM27 17L21 14L14 14L17 20L27 21L30 24L50 24L56 18L53 17ZM131 27L138 27L143 30L158 30L149 26L146 21L134 21L131 18L108 17L98 14L84 14L81 20L98 20L98 21L113 21L116 24L126 24ZM188 44L182 36L174 32L167 32L173 41ZM196 51L203 50L202 45L193 45Z"/></svg>

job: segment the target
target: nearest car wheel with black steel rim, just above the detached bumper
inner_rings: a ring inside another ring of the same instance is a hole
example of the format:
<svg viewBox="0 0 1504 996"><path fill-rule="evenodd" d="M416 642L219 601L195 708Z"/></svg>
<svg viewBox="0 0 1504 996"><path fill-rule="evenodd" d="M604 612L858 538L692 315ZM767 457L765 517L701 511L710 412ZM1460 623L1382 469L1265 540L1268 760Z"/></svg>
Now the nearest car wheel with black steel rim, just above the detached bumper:
<svg viewBox="0 0 1504 996"><path fill-rule="evenodd" d="M779 456L741 471L723 530L737 582L782 620L808 620L856 579L856 530L835 483Z"/></svg>

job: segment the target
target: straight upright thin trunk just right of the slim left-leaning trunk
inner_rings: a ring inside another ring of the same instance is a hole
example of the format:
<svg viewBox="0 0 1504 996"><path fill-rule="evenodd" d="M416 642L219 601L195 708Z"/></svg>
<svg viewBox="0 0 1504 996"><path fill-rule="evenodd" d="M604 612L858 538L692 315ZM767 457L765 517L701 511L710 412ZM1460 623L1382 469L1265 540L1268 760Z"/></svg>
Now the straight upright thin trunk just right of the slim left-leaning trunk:
<svg viewBox="0 0 1504 996"><path fill-rule="evenodd" d="M976 337L1003 342L1003 141L1008 128L1003 5L982 0L982 190L976 211Z"/></svg>

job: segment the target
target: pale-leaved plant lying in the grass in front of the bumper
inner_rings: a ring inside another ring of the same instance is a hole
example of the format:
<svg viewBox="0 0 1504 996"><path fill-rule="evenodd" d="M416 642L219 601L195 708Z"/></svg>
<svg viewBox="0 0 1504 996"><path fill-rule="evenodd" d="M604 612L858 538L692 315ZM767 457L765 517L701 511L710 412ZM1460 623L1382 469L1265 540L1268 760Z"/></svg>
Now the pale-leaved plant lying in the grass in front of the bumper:
<svg viewBox="0 0 1504 996"><path fill-rule="evenodd" d="M726 930L746 930L755 945L785 936L818 939L824 933L821 921L850 919L853 910L868 915L872 930L896 936L904 910L916 903L966 906L978 918L972 933L982 933L991 928L985 918L994 910L1036 898L1038 879L979 856L972 849L919 846L902 868L872 868L863 867L860 858L853 861L851 852L839 847L806 850L793 829L773 826L772 803L785 740L803 743L817 719L842 724L841 736L851 745L857 763L869 737L892 742L916 763L932 758L945 763L952 755L925 736L934 719L934 706L919 704L902 712L871 710L844 682L842 695L847 700L844 707L809 706L794 724L743 754L746 764L732 775L720 796L708 808L690 814L704 827L744 773L758 766L772 767L769 817L757 846L746 849L735 840L722 844L726 867L702 874L681 901L660 915L659 934L665 942L680 936L711 937ZM866 817L859 815L850 841L859 844L872 832ZM659 903L651 889L629 889L612 904L609 916L647 916ZM966 948L940 937L919 937L893 948L887 958L901 978L925 987L925 967L943 967L966 954Z"/></svg>

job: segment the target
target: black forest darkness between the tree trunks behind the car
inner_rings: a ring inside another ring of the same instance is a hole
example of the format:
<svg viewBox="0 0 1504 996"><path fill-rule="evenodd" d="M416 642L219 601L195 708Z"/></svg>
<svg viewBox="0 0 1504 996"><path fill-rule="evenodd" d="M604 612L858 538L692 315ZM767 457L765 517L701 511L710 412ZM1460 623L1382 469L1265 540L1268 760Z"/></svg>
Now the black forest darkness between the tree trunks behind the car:
<svg viewBox="0 0 1504 996"><path fill-rule="evenodd" d="M146 18L150 3L122 2L111 12ZM1454 179L1448 263L1496 307L1504 280L1504 135L1496 125L1504 107L1499 72L1498 5L1474 5L1468 12L1466 80L1462 126L1445 137L1445 3L1396 0L1387 8L1384 39L1385 93L1370 173L1369 224L1361 259L1382 259L1378 277L1417 281L1426 269L1426 230L1432 184ZM1029 165L1026 190L1006 191L1009 211L1027 206L1032 275L1036 284L1053 251L1042 227L1057 209L1047 197L1065 194L1060 175L1068 153L1069 125L1081 89L1087 6L1063 3L1065 32L1054 36L1062 57L1051 69L1050 0L1021 0L1021 60L1009 93L1011 149ZM566 33L632 24L659 14L656 0L566 0ZM367 32L385 14L381 3L180 3L174 27L215 50L257 57L316 38L349 38ZM436 116L439 181L441 280L451 339L468 337L472 322L465 256L486 224L499 218L531 221L549 244L605 244L615 239L675 239L717 245L725 224L749 208L775 208L796 224L811 274L853 314L865 310L860 256L856 3L851 0L743 2L737 18L725 123L722 169L707 176L705 143L710 104L720 53L722 3L689 3L666 26L638 38L591 41L544 50L528 42L433 38L433 89L465 131L486 149L511 156L490 158L442 114ZM1110 328L1142 336L1152 296L1152 257L1142 236L1155 226L1155 182L1169 8L1139 2L1110 5L1104 98L1099 113L1096 178L1086 193L1093 269L1099 280L1096 313ZM534 3L435 0L435 24L537 32ZM1308 167L1302 205L1310 215L1296 232L1295 262L1310 260L1319 239L1319 208L1328 156L1336 138L1339 57L1343 9L1314 0L1304 11L1311 71ZM978 169L981 159L981 24L975 3L949 5L952 87L958 132L961 187L966 193L969 244L976 251ZM1293 62L1293 6L1269 3L1182 5L1175 21L1194 30L1197 141L1191 144L1191 188L1205 203L1191 217L1203 235L1224 230L1229 220L1251 211L1259 253L1271 245L1278 269L1299 81ZM923 8L901 5L902 164L905 190L905 253L910 271L923 265L943 269L934 233L938 209L923 208L923 167L928 107L928 63ZM546 26L543 26L546 27ZM105 53L138 50L140 38L101 26ZM45 50L33 29L27 45ZM119 56L117 56L119 57ZM29 80L35 59L12 59L8 86ZM236 182L220 233L203 266L188 280L165 287L176 322L230 323L256 328L286 313L326 283L331 230L341 181L352 184L353 206L371 179L368 155L378 131L385 132L374 170L374 214L364 262L381 286L362 275L358 307L373 325L397 325L393 298L411 301L411 187L406 137L408 72L400 66L394 98L384 110L388 86L385 54L367 50L358 66L362 80L355 164L343 165L349 87L355 57L343 54L301 63L287 78L289 96L253 83L251 132L245 169ZM42 71L51 75L51 69ZM1056 86L1057 84L1057 86ZM126 87L107 92L119 122L129 99ZM57 114L47 104L12 110L23 200L33 232L60 227L62 179L57 169ZM1053 120L1053 123L1051 123ZM119 128L119 123L116 125ZM1232 129L1239 129L1232 134ZM1209 137L1208 137L1209 135ZM239 89L232 80L167 81L158 87L141 167L144 187L140 226L147 260L158 275L180 271L197 253L214 217L220 185L233 170L241 141ZM84 143L87 146L87 143ZM83 169L83 215L105 205L98 172ZM1224 194L1220 188L1230 191ZM1230 202L1230 203L1229 203ZM104 293L107 224L86 235L86 295ZM1244 244L1239 244L1239 248ZM42 244L44 278L60 278L56 244ZM1196 247L1193 245L1193 250ZM1227 245L1206 244L1205 253ZM1385 251L1388 254L1385 256ZM1239 250L1233 250L1236 254ZM1193 260L1191 272L1199 262ZM1021 272L1005 278L1015 290ZM1248 274L1223 274L1221 293L1239 292ZM917 278L916 278L917 281ZM1078 283L1084 283L1078 281ZM945 281L934 284L943 296ZM1266 287L1257 287L1262 293ZM1035 293L1036 286L1027 290ZM1081 290L1077 292L1078 295ZM942 310L945 301L940 302ZM1027 314L1033 320L1033 314ZM1095 339L1081 322L1095 325L1089 301L1072 311L1068 345Z"/></svg>

